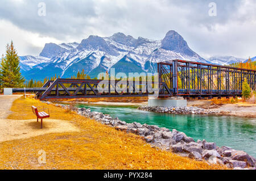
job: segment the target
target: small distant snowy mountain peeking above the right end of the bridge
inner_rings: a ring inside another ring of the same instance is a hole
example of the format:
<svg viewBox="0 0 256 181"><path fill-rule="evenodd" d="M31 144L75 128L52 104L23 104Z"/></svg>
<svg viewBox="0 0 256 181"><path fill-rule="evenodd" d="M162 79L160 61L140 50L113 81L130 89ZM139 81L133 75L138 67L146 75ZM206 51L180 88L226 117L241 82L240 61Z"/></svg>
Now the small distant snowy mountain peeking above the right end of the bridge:
<svg viewBox="0 0 256 181"><path fill-rule="evenodd" d="M233 56L213 56L209 58L209 61L212 64L217 64L217 65L230 65L237 62L244 62L245 58L237 58Z"/></svg>

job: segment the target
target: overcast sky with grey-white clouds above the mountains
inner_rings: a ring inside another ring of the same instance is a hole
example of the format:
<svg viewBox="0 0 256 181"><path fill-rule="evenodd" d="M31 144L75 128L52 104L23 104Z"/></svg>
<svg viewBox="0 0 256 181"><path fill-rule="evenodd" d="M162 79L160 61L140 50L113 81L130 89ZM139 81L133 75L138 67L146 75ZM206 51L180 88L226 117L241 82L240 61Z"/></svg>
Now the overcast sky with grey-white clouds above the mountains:
<svg viewBox="0 0 256 181"><path fill-rule="evenodd" d="M44 16L42 3L46 5ZM211 2L216 16L209 15ZM42 16L43 15L43 16ZM14 41L20 56L45 43L81 42L89 35L123 32L161 40L175 30L204 58L256 56L254 0L1 0L0 53Z"/></svg>

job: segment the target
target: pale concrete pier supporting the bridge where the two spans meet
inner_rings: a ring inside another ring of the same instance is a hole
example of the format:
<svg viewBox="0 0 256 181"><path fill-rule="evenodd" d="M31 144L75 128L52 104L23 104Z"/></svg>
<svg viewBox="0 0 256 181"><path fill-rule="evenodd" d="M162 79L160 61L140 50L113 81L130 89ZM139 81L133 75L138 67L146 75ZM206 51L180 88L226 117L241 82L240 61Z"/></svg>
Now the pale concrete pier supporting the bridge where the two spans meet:
<svg viewBox="0 0 256 181"><path fill-rule="evenodd" d="M187 99L183 97L171 97L171 98L149 98L148 106L158 107L187 107Z"/></svg>

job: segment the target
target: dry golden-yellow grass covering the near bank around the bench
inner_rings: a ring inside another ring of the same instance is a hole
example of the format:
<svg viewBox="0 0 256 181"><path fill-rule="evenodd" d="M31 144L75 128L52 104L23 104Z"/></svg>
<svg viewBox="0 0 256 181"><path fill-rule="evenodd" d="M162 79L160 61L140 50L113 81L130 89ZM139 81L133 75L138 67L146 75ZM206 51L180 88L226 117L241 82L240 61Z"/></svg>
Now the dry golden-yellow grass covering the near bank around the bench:
<svg viewBox="0 0 256 181"><path fill-rule="evenodd" d="M15 100L9 119L34 118L31 105L48 107L52 118L73 121L81 132L1 142L0 169L226 169L151 148L135 134L116 131L76 113L65 113L39 100ZM39 150L46 151L46 164L39 164Z"/></svg>

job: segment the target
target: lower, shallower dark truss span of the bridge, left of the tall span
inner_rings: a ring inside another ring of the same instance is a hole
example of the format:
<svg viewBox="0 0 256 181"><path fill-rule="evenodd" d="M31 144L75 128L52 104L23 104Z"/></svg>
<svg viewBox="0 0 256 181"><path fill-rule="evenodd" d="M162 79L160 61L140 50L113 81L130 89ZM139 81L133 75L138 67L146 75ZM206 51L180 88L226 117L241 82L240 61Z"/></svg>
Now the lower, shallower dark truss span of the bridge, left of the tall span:
<svg viewBox="0 0 256 181"><path fill-rule="evenodd" d="M100 85L99 85L100 84ZM63 79L47 82L38 91L39 99L72 99L72 98L109 98L130 96L171 96L172 92L166 83L159 82L155 89L155 82L142 81L102 81L95 79ZM99 90L99 86L104 91ZM48 87L48 88L47 88ZM155 91L154 91L154 89ZM41 95L40 92L43 92Z"/></svg>

